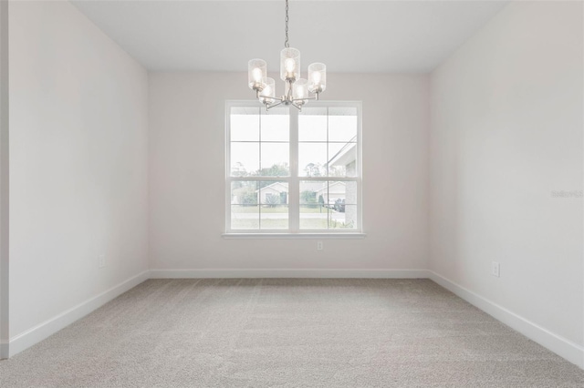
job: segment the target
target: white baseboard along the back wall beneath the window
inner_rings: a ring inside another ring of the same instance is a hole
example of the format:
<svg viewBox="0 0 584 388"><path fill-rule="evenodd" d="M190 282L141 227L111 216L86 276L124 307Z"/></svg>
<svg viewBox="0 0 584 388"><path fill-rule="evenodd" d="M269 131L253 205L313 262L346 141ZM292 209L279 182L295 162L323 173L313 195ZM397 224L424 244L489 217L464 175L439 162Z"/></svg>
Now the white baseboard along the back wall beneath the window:
<svg viewBox="0 0 584 388"><path fill-rule="evenodd" d="M151 279L226 279L226 278L339 278L339 279L427 279L425 270L326 270L326 269L207 269L151 270Z"/></svg>

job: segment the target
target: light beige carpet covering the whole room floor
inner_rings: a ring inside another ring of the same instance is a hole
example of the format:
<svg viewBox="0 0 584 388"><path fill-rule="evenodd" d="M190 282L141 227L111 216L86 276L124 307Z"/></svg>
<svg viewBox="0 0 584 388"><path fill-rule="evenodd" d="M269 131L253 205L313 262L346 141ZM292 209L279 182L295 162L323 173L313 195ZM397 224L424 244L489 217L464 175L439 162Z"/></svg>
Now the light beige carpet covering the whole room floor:
<svg viewBox="0 0 584 388"><path fill-rule="evenodd" d="M151 280L0 362L7 387L583 387L428 280Z"/></svg>

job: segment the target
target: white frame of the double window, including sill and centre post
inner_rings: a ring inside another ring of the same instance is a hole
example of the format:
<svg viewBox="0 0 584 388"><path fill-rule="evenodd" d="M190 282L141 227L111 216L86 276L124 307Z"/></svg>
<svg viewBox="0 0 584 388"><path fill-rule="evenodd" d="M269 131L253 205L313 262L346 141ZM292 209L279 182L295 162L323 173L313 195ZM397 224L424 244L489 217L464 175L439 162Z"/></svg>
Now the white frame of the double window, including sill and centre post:
<svg viewBox="0 0 584 388"><path fill-rule="evenodd" d="M225 230L224 238L260 238L260 239L362 239L365 237L362 224L362 106L360 101L311 101L308 107L355 107L357 109L357 168L356 177L299 177L298 176L298 115L296 107L289 108L290 119L290 176L289 177L232 177L231 176L231 110L232 107L258 107L256 100L228 100L225 102ZM328 142L327 142L328 143ZM231 186L236 180L266 180L287 181L288 183L288 229L287 230L240 230L231 229ZM357 184L357 220L354 229L328 229L328 230L300 230L300 181L354 181Z"/></svg>

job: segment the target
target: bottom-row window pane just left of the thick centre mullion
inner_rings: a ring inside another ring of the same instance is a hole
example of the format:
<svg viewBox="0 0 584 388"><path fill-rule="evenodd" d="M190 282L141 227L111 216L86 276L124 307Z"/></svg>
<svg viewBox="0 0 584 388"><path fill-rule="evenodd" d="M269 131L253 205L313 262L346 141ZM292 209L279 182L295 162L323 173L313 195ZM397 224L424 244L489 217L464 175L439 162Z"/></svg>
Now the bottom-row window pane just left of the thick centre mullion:
<svg viewBox="0 0 584 388"><path fill-rule="evenodd" d="M261 229L287 229L288 183L261 181L259 187Z"/></svg>

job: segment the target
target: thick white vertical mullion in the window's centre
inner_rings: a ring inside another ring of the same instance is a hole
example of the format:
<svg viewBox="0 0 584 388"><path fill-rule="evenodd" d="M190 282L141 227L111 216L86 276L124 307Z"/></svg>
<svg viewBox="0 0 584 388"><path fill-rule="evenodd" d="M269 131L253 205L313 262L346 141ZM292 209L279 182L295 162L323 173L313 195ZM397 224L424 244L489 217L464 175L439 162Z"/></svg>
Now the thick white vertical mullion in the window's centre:
<svg viewBox="0 0 584 388"><path fill-rule="evenodd" d="M300 229L300 184L298 179L298 112L290 109L290 180L288 183L288 228Z"/></svg>

